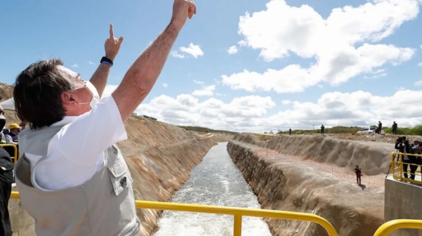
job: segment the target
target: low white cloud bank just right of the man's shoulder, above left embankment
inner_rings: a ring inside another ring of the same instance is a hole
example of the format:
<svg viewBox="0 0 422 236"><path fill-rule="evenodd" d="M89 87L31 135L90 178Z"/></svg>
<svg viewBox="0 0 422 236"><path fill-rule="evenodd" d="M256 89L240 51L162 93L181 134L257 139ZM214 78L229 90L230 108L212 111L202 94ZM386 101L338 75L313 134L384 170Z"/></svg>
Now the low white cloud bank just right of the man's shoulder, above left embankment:
<svg viewBox="0 0 422 236"><path fill-rule="evenodd" d="M199 103L192 95L181 94L176 98L161 95L150 103L141 104L136 112L148 114L176 125L200 125L213 129L252 130L259 125L255 119L263 117L275 103L270 97L245 96L230 103L209 98ZM235 128L236 127L236 128Z"/></svg>

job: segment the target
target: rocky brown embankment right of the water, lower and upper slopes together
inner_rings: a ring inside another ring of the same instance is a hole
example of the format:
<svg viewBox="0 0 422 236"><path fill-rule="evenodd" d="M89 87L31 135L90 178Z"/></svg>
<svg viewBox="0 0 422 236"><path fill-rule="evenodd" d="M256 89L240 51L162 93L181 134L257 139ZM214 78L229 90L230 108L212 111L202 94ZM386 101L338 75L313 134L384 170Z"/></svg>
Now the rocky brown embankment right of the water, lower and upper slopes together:
<svg viewBox="0 0 422 236"><path fill-rule="evenodd" d="M374 173L382 172L380 166L385 165L383 155L388 152L382 147L365 147L362 143L323 136L275 136L260 141L251 134L242 134L229 142L228 152L263 209L317 214L327 219L339 235L374 235L383 223L383 192L362 191L356 183L312 169L288 156L253 152L263 147L345 166L371 157L369 172ZM314 223L277 219L267 222L272 235L327 235L324 228Z"/></svg>

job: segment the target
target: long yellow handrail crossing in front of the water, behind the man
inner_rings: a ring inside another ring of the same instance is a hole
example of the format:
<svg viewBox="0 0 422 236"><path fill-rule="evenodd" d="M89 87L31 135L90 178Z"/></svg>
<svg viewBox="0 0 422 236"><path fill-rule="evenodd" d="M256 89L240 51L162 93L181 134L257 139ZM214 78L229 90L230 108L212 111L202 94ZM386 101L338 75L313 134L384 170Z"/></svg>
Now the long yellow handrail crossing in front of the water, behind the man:
<svg viewBox="0 0 422 236"><path fill-rule="evenodd" d="M13 191L11 193L11 198L20 199L19 192ZM207 206L207 205L199 205L199 204L183 204L183 203L173 203L173 202L151 202L151 201L139 201L139 200L136 200L135 202L136 202L137 208L233 215L235 216L234 225L233 225L234 236L242 235L242 216L279 218L279 219L293 220L293 221L310 221L313 223L317 223L321 225L323 228L325 228L325 230L327 230L327 232L329 233L329 236L338 236L336 229L334 229L331 223L329 223L326 219L322 218L321 216L317 216L315 214L292 212L292 211L246 209L246 208L229 207L229 206Z"/></svg>

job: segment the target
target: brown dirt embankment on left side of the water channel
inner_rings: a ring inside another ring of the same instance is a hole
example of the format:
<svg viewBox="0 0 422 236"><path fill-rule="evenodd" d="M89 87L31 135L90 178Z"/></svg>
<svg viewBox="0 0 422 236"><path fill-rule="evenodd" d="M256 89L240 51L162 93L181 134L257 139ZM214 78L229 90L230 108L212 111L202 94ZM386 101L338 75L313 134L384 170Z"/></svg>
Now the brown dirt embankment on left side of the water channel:
<svg viewBox="0 0 422 236"><path fill-rule="evenodd" d="M203 138L171 124L131 117L126 123L128 140L117 143L131 171L138 200L166 202L187 181L190 169L216 145L213 137ZM17 200L11 200L13 235L35 235L33 219ZM138 209L140 235L150 235L161 211Z"/></svg>

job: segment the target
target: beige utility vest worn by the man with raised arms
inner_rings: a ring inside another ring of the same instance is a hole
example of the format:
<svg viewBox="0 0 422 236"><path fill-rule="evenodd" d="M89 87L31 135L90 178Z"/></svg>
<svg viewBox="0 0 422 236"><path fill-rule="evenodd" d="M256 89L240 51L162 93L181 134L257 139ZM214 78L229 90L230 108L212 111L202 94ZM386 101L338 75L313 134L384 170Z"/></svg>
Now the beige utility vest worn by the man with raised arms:
<svg viewBox="0 0 422 236"><path fill-rule="evenodd" d="M103 168L83 185L54 191L34 188L39 161L30 169L25 152L43 159L48 143L61 128L25 129L19 137L23 155L15 166L15 181L22 206L35 219L37 235L138 235L133 180L115 146L107 148Z"/></svg>

